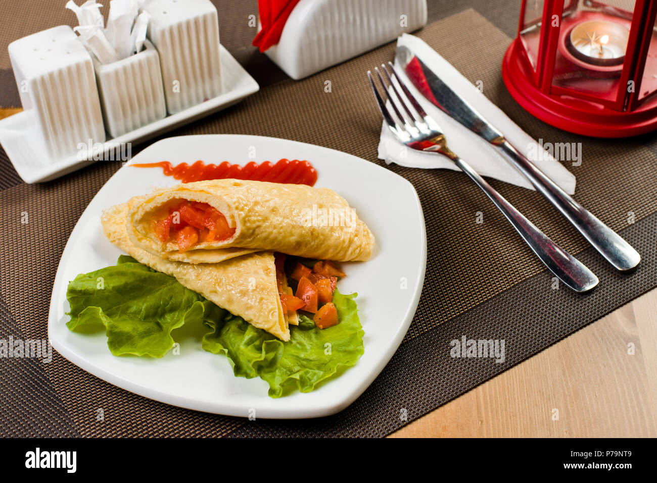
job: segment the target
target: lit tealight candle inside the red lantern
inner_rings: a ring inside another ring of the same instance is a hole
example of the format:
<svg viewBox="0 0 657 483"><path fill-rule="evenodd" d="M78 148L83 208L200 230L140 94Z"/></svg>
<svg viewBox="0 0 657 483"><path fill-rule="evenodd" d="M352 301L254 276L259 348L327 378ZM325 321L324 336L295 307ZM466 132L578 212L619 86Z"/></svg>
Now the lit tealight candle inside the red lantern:
<svg viewBox="0 0 657 483"><path fill-rule="evenodd" d="M588 20L570 31L571 53L594 66L623 63L629 30L608 20Z"/></svg>

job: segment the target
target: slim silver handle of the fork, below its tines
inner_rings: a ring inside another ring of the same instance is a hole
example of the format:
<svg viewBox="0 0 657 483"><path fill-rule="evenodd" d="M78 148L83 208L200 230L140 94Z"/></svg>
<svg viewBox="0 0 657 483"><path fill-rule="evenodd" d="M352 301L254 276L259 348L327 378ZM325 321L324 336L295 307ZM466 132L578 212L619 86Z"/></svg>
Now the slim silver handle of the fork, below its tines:
<svg viewBox="0 0 657 483"><path fill-rule="evenodd" d="M486 196L495 203L513 225L522 239L538 255L541 262L549 268L564 284L577 292L585 292L598 284L598 278L578 259L570 255L559 245L548 238L541 230L530 222L509 201L488 184L468 163L457 156L451 157L454 163L466 173L477 186L482 188Z"/></svg>

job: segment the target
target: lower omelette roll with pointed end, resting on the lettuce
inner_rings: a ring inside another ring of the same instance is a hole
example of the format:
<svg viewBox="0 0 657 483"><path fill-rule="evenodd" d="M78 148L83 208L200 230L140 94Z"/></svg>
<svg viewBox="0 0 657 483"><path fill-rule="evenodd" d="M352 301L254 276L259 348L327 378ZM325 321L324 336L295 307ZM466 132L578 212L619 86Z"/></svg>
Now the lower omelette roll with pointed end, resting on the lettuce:
<svg viewBox="0 0 657 483"><path fill-rule="evenodd" d="M129 205L117 205L102 213L105 235L139 263L171 275L231 314L242 317L283 341L290 340L287 314L279 298L274 255L248 253L222 263L190 264L164 260L135 246L127 234Z"/></svg>

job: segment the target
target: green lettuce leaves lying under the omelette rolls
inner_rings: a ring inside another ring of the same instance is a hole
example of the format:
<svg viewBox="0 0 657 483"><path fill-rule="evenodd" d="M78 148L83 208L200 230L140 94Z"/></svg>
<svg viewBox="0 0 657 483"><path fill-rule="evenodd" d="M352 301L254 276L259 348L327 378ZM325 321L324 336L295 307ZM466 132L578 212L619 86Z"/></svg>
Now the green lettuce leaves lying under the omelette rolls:
<svg viewBox="0 0 657 483"><path fill-rule="evenodd" d="M342 295L336 290L333 303L340 324L318 329L301 314L299 326L290 326L290 341L284 343L183 287L175 278L122 255L116 266L80 274L70 282L66 298L71 320L66 325L78 332L104 327L115 356L159 358L173 347L173 329L202 322L210 328L202 347L225 354L236 376L261 377L269 384L269 396L277 398L295 386L310 392L363 355L363 329L355 297L355 293Z"/></svg>

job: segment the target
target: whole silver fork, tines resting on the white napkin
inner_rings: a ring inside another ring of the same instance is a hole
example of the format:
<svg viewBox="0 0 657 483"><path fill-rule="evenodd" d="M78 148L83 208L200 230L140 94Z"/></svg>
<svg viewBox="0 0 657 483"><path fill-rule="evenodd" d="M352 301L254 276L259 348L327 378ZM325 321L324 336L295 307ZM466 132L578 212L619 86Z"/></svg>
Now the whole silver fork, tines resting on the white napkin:
<svg viewBox="0 0 657 483"><path fill-rule="evenodd" d="M403 81L401 81L399 75L397 75L392 62L388 62L388 65L392 70L392 77L394 77L395 82L393 82L388 68L384 64L381 64L381 67L388 83L386 83L378 68L374 68L374 70L383 86L386 99L390 100L392 112L388 109L378 89L376 89L372 73L369 70L367 71L367 77L369 78L378 108L390 131L392 131L399 142L414 150L441 154L451 159L461 171L466 173L486 193L486 196L493 201L497 209L509 220L510 224L512 224L522 239L530 246L532 251L564 284L577 292L585 292L595 287L598 284L598 278L591 270L553 242L541 230L536 228L532 222L526 219L520 211L515 209L509 201L505 200L501 194L495 191L486 180L474 171L468 163L447 148L445 135L443 135L438 123L424 112L415 96L411 94ZM397 90L396 84L403 91L403 96ZM390 95L391 89L394 96ZM406 101L404 98L406 98ZM401 106L404 114L399 110L397 104Z"/></svg>

